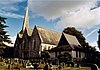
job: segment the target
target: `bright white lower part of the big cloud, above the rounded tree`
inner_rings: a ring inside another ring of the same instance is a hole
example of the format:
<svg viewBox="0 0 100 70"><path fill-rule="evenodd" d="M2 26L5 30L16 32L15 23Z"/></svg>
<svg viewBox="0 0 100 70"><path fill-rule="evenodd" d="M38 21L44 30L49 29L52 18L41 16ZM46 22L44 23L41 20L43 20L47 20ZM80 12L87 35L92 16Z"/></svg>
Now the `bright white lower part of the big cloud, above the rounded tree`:
<svg viewBox="0 0 100 70"><path fill-rule="evenodd" d="M74 26L76 28L89 29L100 24L100 7L94 10L80 9L78 12L72 12L62 16L56 27L65 28Z"/></svg>

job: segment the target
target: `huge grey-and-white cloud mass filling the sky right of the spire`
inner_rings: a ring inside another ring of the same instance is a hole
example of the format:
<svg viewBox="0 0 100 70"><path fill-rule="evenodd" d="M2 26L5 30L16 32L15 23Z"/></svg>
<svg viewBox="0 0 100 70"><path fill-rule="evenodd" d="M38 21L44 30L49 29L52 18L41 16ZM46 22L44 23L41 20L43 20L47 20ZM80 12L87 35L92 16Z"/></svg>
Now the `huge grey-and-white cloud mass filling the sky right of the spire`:
<svg viewBox="0 0 100 70"><path fill-rule="evenodd" d="M33 16L44 16L47 20L60 18L54 27L63 29L74 26L89 29L100 24L100 8L91 10L97 0L29 0Z"/></svg>

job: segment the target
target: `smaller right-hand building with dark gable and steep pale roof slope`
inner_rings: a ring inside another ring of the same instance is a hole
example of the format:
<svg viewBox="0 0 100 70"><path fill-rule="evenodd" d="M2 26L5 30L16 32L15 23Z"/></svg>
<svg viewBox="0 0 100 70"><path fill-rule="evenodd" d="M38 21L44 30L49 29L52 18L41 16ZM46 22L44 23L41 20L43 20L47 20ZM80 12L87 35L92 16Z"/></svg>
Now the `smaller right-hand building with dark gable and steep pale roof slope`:
<svg viewBox="0 0 100 70"><path fill-rule="evenodd" d="M61 54L68 53L73 62L81 61L85 57L84 48L73 35L62 33L57 47L49 50L51 58L57 58Z"/></svg>

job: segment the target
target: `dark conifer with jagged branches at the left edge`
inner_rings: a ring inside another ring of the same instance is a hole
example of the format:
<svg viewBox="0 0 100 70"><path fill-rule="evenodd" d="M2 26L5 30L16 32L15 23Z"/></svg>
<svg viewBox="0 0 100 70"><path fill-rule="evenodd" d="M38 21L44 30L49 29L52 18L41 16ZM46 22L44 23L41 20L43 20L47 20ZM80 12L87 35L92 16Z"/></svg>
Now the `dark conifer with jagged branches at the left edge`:
<svg viewBox="0 0 100 70"><path fill-rule="evenodd" d="M0 46L7 46L4 44L4 42L11 43L11 40L9 38L9 35L7 35L7 31L5 31L5 28L8 27L5 25L5 20L7 18L3 18L0 16Z"/></svg>

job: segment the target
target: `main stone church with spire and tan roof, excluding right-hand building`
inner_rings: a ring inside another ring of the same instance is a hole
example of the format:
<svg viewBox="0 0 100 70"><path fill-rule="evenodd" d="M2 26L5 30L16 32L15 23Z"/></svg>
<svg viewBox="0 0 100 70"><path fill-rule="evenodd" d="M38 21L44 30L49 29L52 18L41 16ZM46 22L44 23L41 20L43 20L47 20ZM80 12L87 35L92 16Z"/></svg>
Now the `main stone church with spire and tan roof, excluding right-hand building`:
<svg viewBox="0 0 100 70"><path fill-rule="evenodd" d="M44 50L57 46L61 33L48 30L39 26L34 29L28 27L28 7L23 21L22 30L17 34L14 44L16 58L37 58Z"/></svg>

